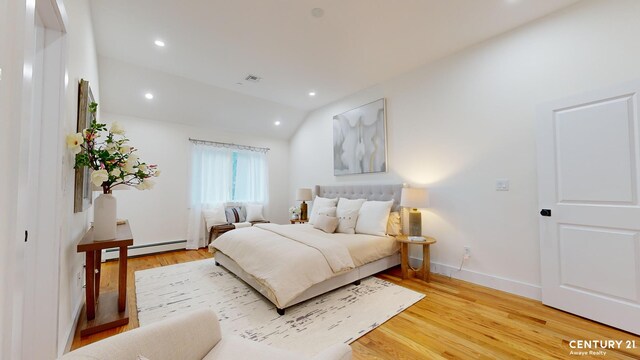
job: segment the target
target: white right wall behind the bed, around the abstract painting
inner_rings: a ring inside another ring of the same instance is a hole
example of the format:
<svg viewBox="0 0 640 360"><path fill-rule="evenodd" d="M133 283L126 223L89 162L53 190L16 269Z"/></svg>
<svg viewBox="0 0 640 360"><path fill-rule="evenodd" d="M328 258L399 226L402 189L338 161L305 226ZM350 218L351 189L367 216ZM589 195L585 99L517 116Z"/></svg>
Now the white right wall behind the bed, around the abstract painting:
<svg viewBox="0 0 640 360"><path fill-rule="evenodd" d="M581 2L313 112L291 140L289 193L315 184L426 186L423 229L439 241L432 262L457 268L470 245L470 271L454 276L539 297L535 108L638 78L638 14L634 0ZM333 115L381 97L389 173L334 177ZM496 178L509 178L511 191L496 192Z"/></svg>

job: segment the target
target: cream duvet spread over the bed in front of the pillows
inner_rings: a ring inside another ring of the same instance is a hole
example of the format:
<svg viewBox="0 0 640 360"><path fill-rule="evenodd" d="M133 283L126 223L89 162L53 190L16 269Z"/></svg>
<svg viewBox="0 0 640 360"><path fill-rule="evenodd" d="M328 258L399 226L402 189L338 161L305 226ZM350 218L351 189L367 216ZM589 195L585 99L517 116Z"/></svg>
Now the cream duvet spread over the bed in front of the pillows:
<svg viewBox="0 0 640 360"><path fill-rule="evenodd" d="M210 248L253 276L278 307L317 283L398 250L391 237L326 234L309 225L277 224L226 232Z"/></svg>

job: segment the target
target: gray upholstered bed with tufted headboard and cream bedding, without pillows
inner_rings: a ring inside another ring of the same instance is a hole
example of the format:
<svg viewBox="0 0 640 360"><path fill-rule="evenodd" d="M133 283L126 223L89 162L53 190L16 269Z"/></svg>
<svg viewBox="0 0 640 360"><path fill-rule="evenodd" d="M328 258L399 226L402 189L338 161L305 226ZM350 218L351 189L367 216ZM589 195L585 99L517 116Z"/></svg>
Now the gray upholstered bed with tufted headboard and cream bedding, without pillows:
<svg viewBox="0 0 640 360"><path fill-rule="evenodd" d="M316 186L317 196L388 201L402 185ZM223 234L209 248L221 265L285 309L400 264L392 236L326 234L308 224L258 224Z"/></svg>

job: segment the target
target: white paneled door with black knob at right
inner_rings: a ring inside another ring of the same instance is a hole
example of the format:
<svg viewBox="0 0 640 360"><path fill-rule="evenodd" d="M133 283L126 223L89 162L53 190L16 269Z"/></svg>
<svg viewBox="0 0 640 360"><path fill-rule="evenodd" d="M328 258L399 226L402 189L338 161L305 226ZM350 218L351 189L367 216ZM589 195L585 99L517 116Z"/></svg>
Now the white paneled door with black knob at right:
<svg viewBox="0 0 640 360"><path fill-rule="evenodd" d="M640 334L640 82L538 109L544 304Z"/></svg>

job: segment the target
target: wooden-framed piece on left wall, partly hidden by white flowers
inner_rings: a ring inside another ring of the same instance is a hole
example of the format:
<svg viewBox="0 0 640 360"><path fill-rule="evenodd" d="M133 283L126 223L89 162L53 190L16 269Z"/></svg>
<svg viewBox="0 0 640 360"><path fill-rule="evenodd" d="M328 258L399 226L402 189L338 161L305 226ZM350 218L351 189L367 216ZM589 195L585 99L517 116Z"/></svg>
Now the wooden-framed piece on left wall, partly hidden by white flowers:
<svg viewBox="0 0 640 360"><path fill-rule="evenodd" d="M89 82L80 79L78 84L78 124L77 131L81 132L95 120L95 114L89 111L89 104L94 102L93 93L89 87ZM91 194L91 173L88 167L76 169L75 189L73 198L73 212L83 212L87 210L93 202Z"/></svg>

